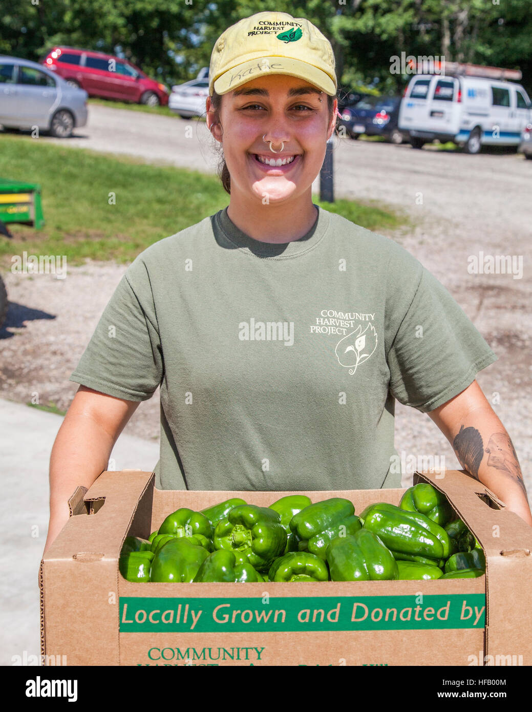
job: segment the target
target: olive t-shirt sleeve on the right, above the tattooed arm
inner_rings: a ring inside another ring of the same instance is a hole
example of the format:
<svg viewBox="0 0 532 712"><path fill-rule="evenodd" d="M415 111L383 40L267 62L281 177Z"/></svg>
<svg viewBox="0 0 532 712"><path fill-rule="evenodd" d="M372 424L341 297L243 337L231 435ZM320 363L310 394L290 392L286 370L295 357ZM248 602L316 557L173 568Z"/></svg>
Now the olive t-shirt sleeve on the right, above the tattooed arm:
<svg viewBox="0 0 532 712"><path fill-rule="evenodd" d="M387 362L390 393L429 412L466 389L497 357L442 283L418 266L419 283Z"/></svg>

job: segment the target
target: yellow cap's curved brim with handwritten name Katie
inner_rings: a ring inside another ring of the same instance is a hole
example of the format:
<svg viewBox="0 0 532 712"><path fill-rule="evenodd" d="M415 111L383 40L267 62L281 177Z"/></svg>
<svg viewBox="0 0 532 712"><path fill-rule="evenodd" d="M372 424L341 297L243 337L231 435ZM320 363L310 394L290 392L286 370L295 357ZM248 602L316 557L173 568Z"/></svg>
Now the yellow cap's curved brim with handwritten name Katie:
<svg viewBox="0 0 532 712"><path fill-rule="evenodd" d="M317 86L325 94L334 96L336 93L335 83L321 69L299 59L278 56L252 59L231 68L214 80L214 90L217 94L226 94L246 82L268 74L286 74L297 77Z"/></svg>

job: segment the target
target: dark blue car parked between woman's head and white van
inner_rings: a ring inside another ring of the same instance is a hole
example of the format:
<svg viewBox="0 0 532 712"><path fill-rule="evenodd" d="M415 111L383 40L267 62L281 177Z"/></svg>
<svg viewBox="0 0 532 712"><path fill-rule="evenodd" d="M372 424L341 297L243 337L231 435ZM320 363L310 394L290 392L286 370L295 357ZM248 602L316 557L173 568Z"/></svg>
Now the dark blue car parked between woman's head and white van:
<svg viewBox="0 0 532 712"><path fill-rule="evenodd" d="M356 139L361 134L383 136L399 144L407 140L397 128L400 104L400 96L365 96L358 103L340 110L340 123L351 138Z"/></svg>

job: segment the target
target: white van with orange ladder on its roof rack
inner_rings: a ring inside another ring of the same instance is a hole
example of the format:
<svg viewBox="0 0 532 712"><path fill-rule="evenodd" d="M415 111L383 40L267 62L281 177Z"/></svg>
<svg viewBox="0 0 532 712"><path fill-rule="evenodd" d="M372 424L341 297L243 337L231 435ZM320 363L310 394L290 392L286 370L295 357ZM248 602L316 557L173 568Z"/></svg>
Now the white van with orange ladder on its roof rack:
<svg viewBox="0 0 532 712"><path fill-rule="evenodd" d="M466 153L478 153L482 145L515 146L531 122L531 100L521 84L503 79L467 75L464 65L453 75L417 74L405 90L399 112L399 129L413 148L438 139L453 141ZM447 70L447 65L446 65ZM518 75L499 70L499 75ZM504 74L501 74L504 73Z"/></svg>

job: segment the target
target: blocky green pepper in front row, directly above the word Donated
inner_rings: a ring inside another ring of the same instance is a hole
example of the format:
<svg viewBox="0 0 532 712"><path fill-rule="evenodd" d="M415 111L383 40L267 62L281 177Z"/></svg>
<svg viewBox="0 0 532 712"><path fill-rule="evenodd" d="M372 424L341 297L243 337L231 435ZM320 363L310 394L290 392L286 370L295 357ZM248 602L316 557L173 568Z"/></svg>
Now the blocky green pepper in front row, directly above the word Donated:
<svg viewBox="0 0 532 712"><path fill-rule="evenodd" d="M367 529L333 539L327 547L327 563L333 581L393 580L399 576L392 552Z"/></svg>

